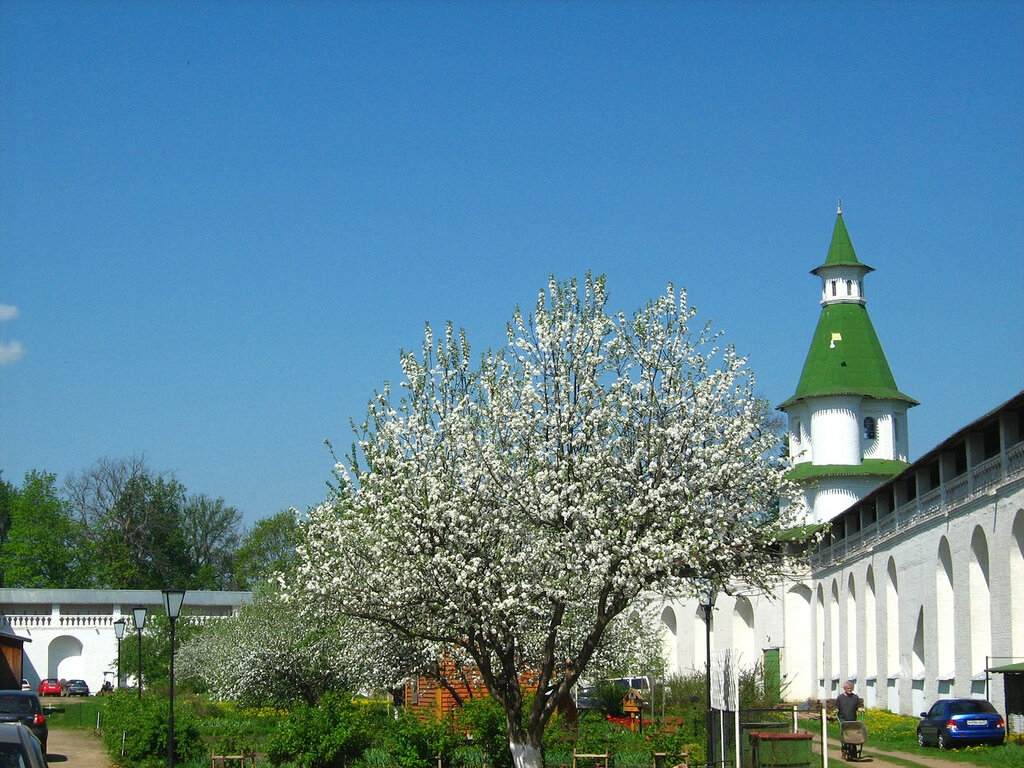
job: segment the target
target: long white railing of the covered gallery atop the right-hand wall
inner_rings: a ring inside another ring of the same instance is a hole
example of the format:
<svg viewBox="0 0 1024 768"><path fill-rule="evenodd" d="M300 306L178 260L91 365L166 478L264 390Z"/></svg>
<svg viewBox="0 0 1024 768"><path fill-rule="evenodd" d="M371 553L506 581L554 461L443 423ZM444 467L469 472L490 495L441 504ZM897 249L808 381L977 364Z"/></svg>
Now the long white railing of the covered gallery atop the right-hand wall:
<svg viewBox="0 0 1024 768"><path fill-rule="evenodd" d="M971 467L938 487L921 494L848 536L834 539L809 556L811 567L823 568L862 554L869 547L950 514L1004 482L1024 476L1024 441ZM846 513L845 513L846 514Z"/></svg>

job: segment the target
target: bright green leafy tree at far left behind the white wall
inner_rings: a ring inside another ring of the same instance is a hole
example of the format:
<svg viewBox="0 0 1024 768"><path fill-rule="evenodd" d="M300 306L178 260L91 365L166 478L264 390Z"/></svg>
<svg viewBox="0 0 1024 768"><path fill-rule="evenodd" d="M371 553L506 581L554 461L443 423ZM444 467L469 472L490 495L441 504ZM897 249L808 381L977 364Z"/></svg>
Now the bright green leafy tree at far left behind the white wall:
<svg viewBox="0 0 1024 768"><path fill-rule="evenodd" d="M79 586L81 526L57 492L55 476L33 470L16 494L5 493L9 524L0 547L0 583L40 589Z"/></svg>

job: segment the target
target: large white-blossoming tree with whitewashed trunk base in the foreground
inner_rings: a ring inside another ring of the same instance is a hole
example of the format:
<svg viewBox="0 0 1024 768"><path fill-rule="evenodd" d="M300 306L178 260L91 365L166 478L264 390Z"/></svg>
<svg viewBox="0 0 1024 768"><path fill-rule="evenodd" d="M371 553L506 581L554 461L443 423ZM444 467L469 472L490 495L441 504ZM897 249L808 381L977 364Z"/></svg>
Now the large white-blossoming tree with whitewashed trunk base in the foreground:
<svg viewBox="0 0 1024 768"><path fill-rule="evenodd" d="M309 511L291 592L468 654L517 768L538 768L615 616L780 570L777 437L745 361L693 316L672 286L611 314L588 275L552 280L476 365L464 334L428 327Z"/></svg>

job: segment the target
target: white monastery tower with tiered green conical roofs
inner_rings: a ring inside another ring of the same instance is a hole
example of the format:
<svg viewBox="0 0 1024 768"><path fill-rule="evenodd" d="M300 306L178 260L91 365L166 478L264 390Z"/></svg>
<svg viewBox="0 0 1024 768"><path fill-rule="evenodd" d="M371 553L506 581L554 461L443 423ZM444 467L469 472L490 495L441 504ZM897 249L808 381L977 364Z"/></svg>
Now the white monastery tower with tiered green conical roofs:
<svg viewBox="0 0 1024 768"><path fill-rule="evenodd" d="M808 522L830 520L907 463L907 409L867 316L864 275L836 217L821 279L821 316L797 393L780 404L790 419L792 477L804 488Z"/></svg>

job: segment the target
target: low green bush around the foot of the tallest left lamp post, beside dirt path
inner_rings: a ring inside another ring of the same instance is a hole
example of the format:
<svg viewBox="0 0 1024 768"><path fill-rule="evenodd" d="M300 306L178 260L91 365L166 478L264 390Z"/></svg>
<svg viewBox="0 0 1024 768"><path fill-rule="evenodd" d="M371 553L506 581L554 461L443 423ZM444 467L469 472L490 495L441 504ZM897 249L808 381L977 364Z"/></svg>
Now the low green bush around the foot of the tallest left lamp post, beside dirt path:
<svg viewBox="0 0 1024 768"><path fill-rule="evenodd" d="M166 697L150 695L139 700L134 691L127 690L104 696L100 724L108 754L122 768L166 765L168 715ZM199 719L182 698L174 701L174 755L176 763L206 756Z"/></svg>

